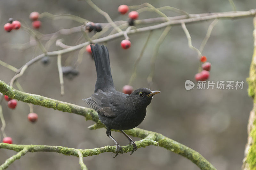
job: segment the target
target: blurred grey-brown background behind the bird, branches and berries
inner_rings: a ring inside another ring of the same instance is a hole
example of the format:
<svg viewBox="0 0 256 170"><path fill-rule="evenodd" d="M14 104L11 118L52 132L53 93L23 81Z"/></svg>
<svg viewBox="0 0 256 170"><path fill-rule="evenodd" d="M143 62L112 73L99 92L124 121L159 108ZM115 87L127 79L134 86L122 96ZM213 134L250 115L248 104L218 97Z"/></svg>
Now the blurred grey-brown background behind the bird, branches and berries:
<svg viewBox="0 0 256 170"><path fill-rule="evenodd" d="M172 6L191 14L232 11L228 0L94 0L93 2L103 11L108 12L114 21L127 19L127 15L119 15L117 12L117 8L121 4L140 5L148 2L155 7ZM234 3L238 11L247 11L256 7L255 0L234 0ZM27 43L30 40L30 35L23 30L6 33L3 26L10 17L31 26L28 16L32 11L39 13L47 11L52 14L67 13L95 23L106 22L102 15L94 11L84 1L1 0L0 60L17 68L42 52L34 46L23 50L14 49L13 44ZM164 11L164 13L168 16L177 15L170 11ZM144 12L140 14L139 19L153 17L158 17L158 15L154 12ZM68 19L41 18L40 20L42 27L38 31L44 34L54 33L61 28L81 25ZM192 37L192 44L196 48L199 48L211 22L204 21L187 25ZM212 63L210 80L243 80L245 82L243 90L185 90L185 81L187 79L194 81L194 75L198 70L198 59L196 52L188 48L187 38L180 26L173 26L160 46L153 84L148 85L150 58L162 31L163 29L159 29L153 32L143 58L138 64L137 77L132 83L135 89L148 87L151 90L162 92L156 95L148 106L146 118L139 128L162 133L185 144L201 153L218 170L241 169L244 146L247 141L246 126L249 112L252 109L252 99L247 95L248 85L246 83L253 50L252 17L219 20L203 51L208 62ZM117 90L122 91L122 87L128 84L133 64L140 54L148 33L130 35L132 46L127 50L120 47L120 42L124 37L107 43L112 75ZM64 44L74 46L81 35L82 33L79 32L72 35L61 35L60 38L63 38ZM79 43L82 42L85 40L80 39ZM61 48L56 47L53 43L49 51L59 49ZM78 52L63 55L62 65L67 65L65 60L68 57L71 59L68 64L75 63ZM73 80L64 79L64 96L60 96L57 57L51 57L50 64L47 66L41 62L33 64L19 78L19 82L25 92L88 107L82 99L88 98L94 91L96 71L91 56L86 52L78 71L79 76ZM0 79L6 83L14 75L11 70L3 66L0 66L0 73ZM80 149L113 145L112 140L106 136L105 129L87 129L94 122L86 122L84 117L79 115L34 106L34 112L38 114L39 118L35 124L32 124L27 120L28 104L19 101L17 107L11 110L7 107L7 102L3 100L2 107L6 121L5 132L7 136L12 137L13 144L61 145ZM127 139L123 134L112 132L112 135L121 145L127 144ZM139 140L134 137L133 139ZM1 149L0 163L4 163L5 159L15 153ZM91 170L199 169L190 160L156 146L140 148L132 156L128 156L128 153L118 155L115 159L112 158L113 156L114 154L109 152L102 153L84 158L84 163ZM78 158L73 156L36 152L27 153L15 161L9 169L80 169L80 166Z"/></svg>

